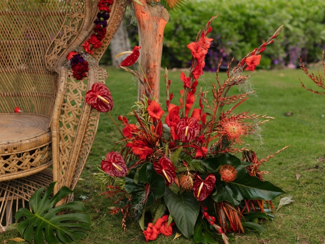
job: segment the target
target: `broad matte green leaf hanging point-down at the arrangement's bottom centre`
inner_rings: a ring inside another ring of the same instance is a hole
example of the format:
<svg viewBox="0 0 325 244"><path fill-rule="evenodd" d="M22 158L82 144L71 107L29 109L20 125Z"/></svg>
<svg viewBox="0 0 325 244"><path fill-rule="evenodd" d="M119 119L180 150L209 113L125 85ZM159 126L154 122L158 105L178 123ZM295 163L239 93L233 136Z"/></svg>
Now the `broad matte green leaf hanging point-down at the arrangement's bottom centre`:
<svg viewBox="0 0 325 244"><path fill-rule="evenodd" d="M190 239L199 215L200 202L193 192L175 195L169 188L166 189L164 200L177 228Z"/></svg>

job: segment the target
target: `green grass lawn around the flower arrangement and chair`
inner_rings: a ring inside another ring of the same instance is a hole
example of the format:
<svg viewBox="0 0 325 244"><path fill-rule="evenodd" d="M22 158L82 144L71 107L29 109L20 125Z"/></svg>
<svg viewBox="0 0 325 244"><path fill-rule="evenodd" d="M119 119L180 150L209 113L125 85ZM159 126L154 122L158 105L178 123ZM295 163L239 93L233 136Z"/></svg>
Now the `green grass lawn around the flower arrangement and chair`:
<svg viewBox="0 0 325 244"><path fill-rule="evenodd" d="M315 72L316 69L312 71ZM128 73L110 67L108 72L110 77L106 84L111 90L115 105L111 114L117 120L119 114L125 115L134 105L137 87ZM182 88L179 76L180 72L170 72L171 92L174 95L179 94L178 90ZM276 212L275 220L264 225L266 230L262 235L254 232L240 236L235 234L236 240L232 243L325 243L325 160L322 159L325 156L325 96L303 89L298 76L306 81L307 87L314 87L301 70L255 71L251 82L257 89L258 97L250 97L235 110L276 117L263 126L263 146L259 146L259 142L250 137L245 139L245 143L257 151L260 159L285 145L291 145L265 164L266 170L271 171L265 178L287 194L294 195L295 202ZM220 77L224 78L225 73L220 73ZM215 74L206 73L200 83L209 89L214 81ZM234 88L231 92L238 93L238 90ZM163 79L160 98L165 104ZM174 103L178 98L179 96L175 96ZM293 115L285 116L284 113L289 111ZM89 197L84 204L93 222L90 235L79 243L145 242L139 226L132 221L127 222L128 228L123 232L120 228L122 215L109 214L108 207L114 199L99 197L100 184L91 179L92 174L98 172L96 164L100 164L102 157L112 150L114 142L119 139L120 135L108 115L102 114L96 139L81 176L85 180L79 181L75 192L75 199L79 199L81 195ZM296 179L296 173L302 175L299 180ZM279 199L275 199L275 206ZM16 236L20 236L17 231L5 232L0 236L0 243ZM159 236L153 243L194 243L184 237L173 241L173 237L174 234L171 237Z"/></svg>

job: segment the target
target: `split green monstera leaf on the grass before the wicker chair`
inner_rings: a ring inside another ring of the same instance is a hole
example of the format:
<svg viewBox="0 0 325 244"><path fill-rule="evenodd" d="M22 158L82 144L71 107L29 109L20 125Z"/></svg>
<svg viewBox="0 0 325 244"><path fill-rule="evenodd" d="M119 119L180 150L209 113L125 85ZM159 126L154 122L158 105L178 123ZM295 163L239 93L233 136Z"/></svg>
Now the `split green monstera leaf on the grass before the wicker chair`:
<svg viewBox="0 0 325 244"><path fill-rule="evenodd" d="M65 214L57 215L58 212L66 209L86 212L82 202L69 202L58 207L54 205L62 197L71 194L73 191L67 187L62 187L51 199L49 196L53 191L56 182L52 182L49 188L41 197L45 187L37 190L29 199L29 207L32 212L26 208L20 208L16 212L16 220L25 217L18 223L17 229L25 240L30 242L33 239L36 244L44 243L73 243L84 238L91 230L91 219L88 214ZM54 207L54 208L53 208ZM43 232L44 231L44 232Z"/></svg>

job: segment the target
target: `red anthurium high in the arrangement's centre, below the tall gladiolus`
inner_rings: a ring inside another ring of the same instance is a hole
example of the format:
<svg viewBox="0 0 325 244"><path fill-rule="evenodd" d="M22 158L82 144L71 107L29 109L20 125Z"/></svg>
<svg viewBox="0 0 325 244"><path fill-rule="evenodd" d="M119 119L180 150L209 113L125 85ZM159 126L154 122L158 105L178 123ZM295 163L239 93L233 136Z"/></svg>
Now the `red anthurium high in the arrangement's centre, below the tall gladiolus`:
<svg viewBox="0 0 325 244"><path fill-rule="evenodd" d="M200 124L196 118L181 118L176 126L176 132L182 142L189 142L197 137Z"/></svg>

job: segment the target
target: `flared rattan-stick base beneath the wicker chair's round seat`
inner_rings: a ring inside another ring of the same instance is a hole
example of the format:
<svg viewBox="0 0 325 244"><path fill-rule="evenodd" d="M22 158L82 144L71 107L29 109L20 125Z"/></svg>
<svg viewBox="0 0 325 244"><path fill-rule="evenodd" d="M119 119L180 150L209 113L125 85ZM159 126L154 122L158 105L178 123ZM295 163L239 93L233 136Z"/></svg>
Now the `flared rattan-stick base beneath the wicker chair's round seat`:
<svg viewBox="0 0 325 244"><path fill-rule="evenodd" d="M32 194L52 181L52 171L45 169L27 177L0 182L0 233L12 224L18 209L28 205Z"/></svg>

